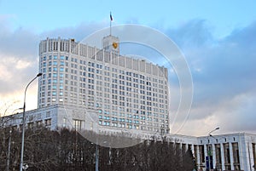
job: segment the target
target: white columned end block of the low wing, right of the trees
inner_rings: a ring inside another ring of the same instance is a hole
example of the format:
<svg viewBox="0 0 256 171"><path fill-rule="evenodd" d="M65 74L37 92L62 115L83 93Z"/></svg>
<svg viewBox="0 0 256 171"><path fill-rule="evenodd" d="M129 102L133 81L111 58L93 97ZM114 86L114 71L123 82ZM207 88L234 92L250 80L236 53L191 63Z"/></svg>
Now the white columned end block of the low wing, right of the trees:
<svg viewBox="0 0 256 171"><path fill-rule="evenodd" d="M210 165L216 170L255 170L255 134L220 134L197 140L194 154L198 168Z"/></svg>

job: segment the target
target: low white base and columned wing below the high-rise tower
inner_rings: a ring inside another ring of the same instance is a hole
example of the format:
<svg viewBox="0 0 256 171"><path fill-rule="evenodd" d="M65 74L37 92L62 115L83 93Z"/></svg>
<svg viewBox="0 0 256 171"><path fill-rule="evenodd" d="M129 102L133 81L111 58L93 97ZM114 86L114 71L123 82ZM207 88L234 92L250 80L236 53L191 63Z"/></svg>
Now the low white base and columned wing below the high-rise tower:
<svg viewBox="0 0 256 171"><path fill-rule="evenodd" d="M82 112L83 111L83 112ZM49 129L75 128L77 130L98 130L100 134L119 134L127 131L125 128L106 128L98 123L94 111L84 111L78 107L64 105L50 105L37 110L26 111L26 125L29 128L45 126ZM9 117L0 117L2 126L21 128L22 113ZM180 145L183 151L192 151L198 170L205 171L209 166L211 170L243 170L254 171L256 165L256 135L218 134L210 136L188 136L168 133L132 132L134 137L143 140L150 139L152 135L166 136L170 142ZM210 159L210 160L209 160Z"/></svg>

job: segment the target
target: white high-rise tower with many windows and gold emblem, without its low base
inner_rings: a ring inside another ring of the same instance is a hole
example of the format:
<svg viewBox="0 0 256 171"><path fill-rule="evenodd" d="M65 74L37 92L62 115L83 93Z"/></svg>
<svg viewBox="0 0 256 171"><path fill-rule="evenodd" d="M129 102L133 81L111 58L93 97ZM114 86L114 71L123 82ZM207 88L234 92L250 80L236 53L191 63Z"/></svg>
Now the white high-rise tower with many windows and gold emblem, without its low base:
<svg viewBox="0 0 256 171"><path fill-rule="evenodd" d="M169 132L167 69L120 55L118 37L104 37L102 45L41 41L38 108L73 105L96 111L106 127Z"/></svg>

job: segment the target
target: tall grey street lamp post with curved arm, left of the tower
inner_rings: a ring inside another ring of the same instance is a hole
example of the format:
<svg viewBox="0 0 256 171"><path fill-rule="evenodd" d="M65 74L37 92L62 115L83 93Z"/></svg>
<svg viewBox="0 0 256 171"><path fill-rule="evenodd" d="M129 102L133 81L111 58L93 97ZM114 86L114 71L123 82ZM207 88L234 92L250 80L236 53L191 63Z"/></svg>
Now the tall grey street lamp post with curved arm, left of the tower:
<svg viewBox="0 0 256 171"><path fill-rule="evenodd" d="M38 73L38 75L36 77L34 77L30 83L28 83L26 85L25 88L25 92L24 92L24 105L23 105L23 117L22 117L22 138L21 138L21 151L20 151L20 171L22 171L23 168L23 153L24 153L24 137L25 137L25 127L26 127L26 115L25 115L25 111L26 111L26 89L28 88L28 86L38 77L42 76L42 73Z"/></svg>

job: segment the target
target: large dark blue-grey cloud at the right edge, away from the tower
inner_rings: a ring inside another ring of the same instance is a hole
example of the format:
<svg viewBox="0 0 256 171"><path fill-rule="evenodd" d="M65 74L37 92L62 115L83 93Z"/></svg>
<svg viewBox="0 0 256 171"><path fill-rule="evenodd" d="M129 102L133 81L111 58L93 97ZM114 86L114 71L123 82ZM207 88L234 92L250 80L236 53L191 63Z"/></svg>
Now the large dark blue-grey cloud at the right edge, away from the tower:
<svg viewBox="0 0 256 171"><path fill-rule="evenodd" d="M256 25L254 25L254 30L256 31ZM207 94L201 94L201 97L204 96L216 102L252 91L256 85L254 79L256 54L253 52L256 44L247 41L244 34L253 37L254 32L245 28L222 40L217 47L207 48L206 51L198 49L199 53L196 56L189 57L189 60L192 58L201 60L199 67L202 70L193 72L195 85L199 83L197 88L201 88L199 91L207 90ZM236 41L230 41L230 39ZM211 95L211 98L208 95Z"/></svg>

